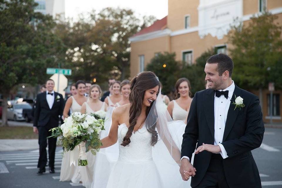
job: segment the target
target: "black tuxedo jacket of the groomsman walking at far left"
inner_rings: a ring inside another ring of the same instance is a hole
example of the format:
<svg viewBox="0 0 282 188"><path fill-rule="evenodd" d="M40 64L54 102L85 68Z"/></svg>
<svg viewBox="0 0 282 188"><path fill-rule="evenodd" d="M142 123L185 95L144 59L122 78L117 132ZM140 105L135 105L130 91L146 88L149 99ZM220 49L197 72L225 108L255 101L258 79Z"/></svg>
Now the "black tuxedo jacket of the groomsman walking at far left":
<svg viewBox="0 0 282 188"><path fill-rule="evenodd" d="M57 99L57 96L60 96L60 99ZM60 93L54 92L54 103L51 109L46 100L46 92L39 93L36 98L33 126L58 127L59 115L62 116L63 108L64 99Z"/></svg>

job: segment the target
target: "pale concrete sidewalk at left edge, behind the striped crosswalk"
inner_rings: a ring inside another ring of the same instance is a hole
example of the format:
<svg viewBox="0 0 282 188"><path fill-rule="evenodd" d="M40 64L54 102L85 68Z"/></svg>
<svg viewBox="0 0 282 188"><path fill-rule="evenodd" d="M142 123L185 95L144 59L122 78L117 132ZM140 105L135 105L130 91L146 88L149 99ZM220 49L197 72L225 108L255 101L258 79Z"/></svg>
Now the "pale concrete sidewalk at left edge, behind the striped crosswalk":
<svg viewBox="0 0 282 188"><path fill-rule="evenodd" d="M38 139L0 139L0 152L39 149Z"/></svg>

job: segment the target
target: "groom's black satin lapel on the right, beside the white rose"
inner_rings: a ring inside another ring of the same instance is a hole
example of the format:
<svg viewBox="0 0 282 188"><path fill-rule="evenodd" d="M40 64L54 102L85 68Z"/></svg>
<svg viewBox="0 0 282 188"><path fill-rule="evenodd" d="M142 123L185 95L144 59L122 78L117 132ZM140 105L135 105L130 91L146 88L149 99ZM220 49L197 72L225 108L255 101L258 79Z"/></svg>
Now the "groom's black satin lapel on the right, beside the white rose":
<svg viewBox="0 0 282 188"><path fill-rule="evenodd" d="M229 106L229 110L227 113L227 119L226 119L226 123L225 123L225 129L224 129L224 134L223 134L223 142L226 139L226 137L228 136L229 132L231 131L236 117L238 115L239 112L239 108L236 108L236 110L234 110L235 105L232 104L233 102L235 102L235 95L236 97L241 95L241 90L238 86L235 85L235 89L234 89L234 93L232 95L231 101L230 101L230 106Z"/></svg>

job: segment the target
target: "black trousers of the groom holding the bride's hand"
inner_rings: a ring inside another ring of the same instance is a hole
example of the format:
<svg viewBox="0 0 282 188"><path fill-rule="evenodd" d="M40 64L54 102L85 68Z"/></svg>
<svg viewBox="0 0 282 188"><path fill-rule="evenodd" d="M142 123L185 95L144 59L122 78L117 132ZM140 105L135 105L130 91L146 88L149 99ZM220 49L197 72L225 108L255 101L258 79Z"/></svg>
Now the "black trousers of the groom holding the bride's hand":
<svg viewBox="0 0 282 188"><path fill-rule="evenodd" d="M202 181L196 187L229 188L224 174L223 159L220 154L212 154L207 172L204 175Z"/></svg>

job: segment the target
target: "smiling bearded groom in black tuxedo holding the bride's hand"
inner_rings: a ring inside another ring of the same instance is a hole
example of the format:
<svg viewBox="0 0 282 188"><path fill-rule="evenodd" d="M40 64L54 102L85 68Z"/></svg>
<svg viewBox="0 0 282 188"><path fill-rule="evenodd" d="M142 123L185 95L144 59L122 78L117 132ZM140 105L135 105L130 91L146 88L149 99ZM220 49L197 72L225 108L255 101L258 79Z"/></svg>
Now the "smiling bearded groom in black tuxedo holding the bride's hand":
<svg viewBox="0 0 282 188"><path fill-rule="evenodd" d="M261 187L251 153L263 140L259 98L234 84L233 67L227 55L211 56L204 70L209 89L195 93L191 103L179 170L183 180L192 176L191 187Z"/></svg>

